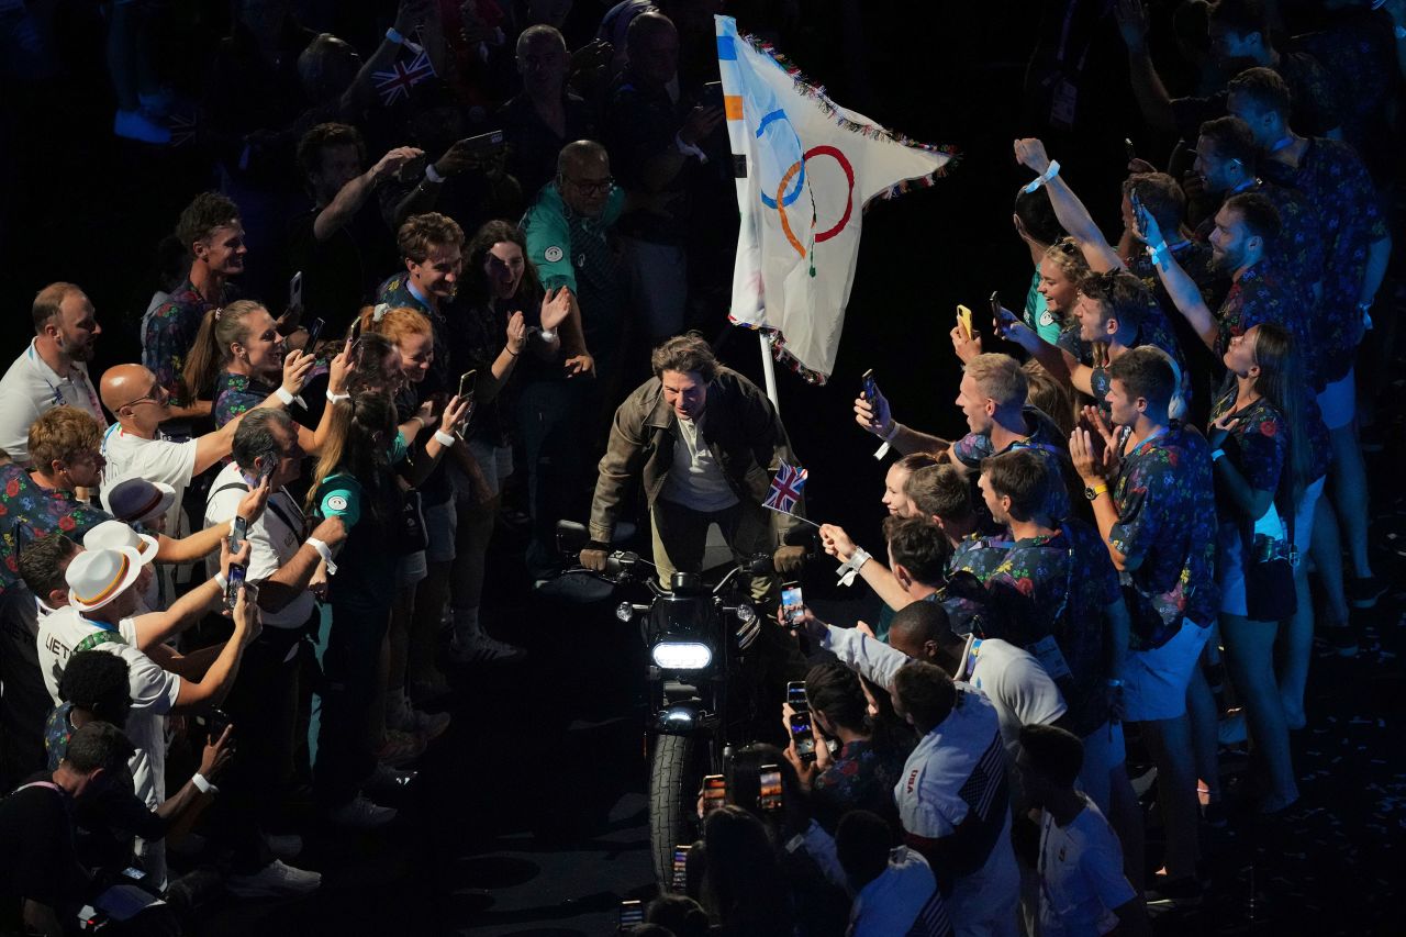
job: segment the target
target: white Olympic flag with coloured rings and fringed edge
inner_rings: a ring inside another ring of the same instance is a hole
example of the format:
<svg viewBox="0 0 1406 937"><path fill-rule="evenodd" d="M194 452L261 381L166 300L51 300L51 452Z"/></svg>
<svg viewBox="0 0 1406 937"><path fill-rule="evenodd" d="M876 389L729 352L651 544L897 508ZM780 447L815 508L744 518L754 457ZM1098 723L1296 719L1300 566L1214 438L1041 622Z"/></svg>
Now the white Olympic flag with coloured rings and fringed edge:
<svg viewBox="0 0 1406 937"><path fill-rule="evenodd" d="M733 270L737 325L824 383L835 366L865 204L931 184L952 155L832 103L770 49L714 17L723 104L742 215Z"/></svg>

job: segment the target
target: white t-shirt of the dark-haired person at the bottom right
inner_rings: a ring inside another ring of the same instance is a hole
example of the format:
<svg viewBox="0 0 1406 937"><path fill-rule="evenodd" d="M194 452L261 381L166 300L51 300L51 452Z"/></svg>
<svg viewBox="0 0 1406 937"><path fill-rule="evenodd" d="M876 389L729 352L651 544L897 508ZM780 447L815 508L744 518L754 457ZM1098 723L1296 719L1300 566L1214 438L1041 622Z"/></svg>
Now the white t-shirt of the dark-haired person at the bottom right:
<svg viewBox="0 0 1406 937"><path fill-rule="evenodd" d="M1042 815L1038 872L1042 937L1107 934L1118 926L1112 909L1136 893L1123 877L1118 836L1088 798L1069 826Z"/></svg>

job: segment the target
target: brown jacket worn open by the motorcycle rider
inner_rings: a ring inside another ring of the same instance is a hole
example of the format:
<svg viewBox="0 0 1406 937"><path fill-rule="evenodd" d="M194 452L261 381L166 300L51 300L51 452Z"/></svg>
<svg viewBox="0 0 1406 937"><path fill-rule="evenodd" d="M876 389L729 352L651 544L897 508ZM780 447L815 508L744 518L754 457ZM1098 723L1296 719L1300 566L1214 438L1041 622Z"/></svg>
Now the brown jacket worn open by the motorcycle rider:
<svg viewBox="0 0 1406 937"><path fill-rule="evenodd" d="M645 499L654 508L673 466L678 418L664 401L664 385L651 377L616 409L610 443L600 460L596 497L591 505L591 539L609 543L627 487L644 483ZM778 463L796 464L786 428L766 394L737 371L718 367L707 388L707 419L703 438L723 467L733 492L741 501L759 505L766 499ZM804 515L804 502L797 505ZM790 515L772 512L778 543L800 526Z"/></svg>

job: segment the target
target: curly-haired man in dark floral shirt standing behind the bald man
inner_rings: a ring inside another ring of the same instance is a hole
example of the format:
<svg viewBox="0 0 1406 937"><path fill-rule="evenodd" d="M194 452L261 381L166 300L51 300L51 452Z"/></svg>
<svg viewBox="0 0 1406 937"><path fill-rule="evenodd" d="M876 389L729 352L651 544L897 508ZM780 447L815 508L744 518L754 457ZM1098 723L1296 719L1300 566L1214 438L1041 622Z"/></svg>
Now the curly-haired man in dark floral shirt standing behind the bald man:
<svg viewBox="0 0 1406 937"><path fill-rule="evenodd" d="M169 419L209 416L209 401L197 401L181 381L186 355L195 345L205 312L233 300L229 277L245 270L245 225L239 207L219 193L205 191L186 205L176 236L190 252L190 274L142 324L142 364L172 395Z"/></svg>

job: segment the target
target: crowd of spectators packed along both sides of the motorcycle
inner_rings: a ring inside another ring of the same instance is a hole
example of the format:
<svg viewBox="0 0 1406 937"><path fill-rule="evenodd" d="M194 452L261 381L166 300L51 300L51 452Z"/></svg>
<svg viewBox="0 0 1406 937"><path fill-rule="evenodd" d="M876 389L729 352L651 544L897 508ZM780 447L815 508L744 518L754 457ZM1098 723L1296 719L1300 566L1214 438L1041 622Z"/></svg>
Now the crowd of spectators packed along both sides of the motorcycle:
<svg viewBox="0 0 1406 937"><path fill-rule="evenodd" d="M44 6L0 0L0 48L34 76ZM806 17L725 6L769 37ZM686 895L633 933L1142 933L1213 886L1204 826L1298 809L1315 636L1355 654L1388 585L1360 416L1398 338L1378 300L1406 3L1324 3L1312 35L1288 4L1101 4L1142 120L1180 136L1097 189L1116 205L1057 162L1078 159L1088 46L1112 38L1066 6L1053 77L1039 52L1029 75L1050 146L1011 149L1029 291L990 326L959 318L960 381L929 388L967 432L855 400L897 453L884 543L825 523L818 546L882 613L804 611L806 701L782 715L808 712L814 756L734 753ZM627 388L661 342L723 321L723 7L401 0L359 52L292 0L233 3L197 128L218 186L152 245L139 345L89 373L105 311L75 269L32 284L0 381L0 930L70 933L93 906L114 933L169 933L195 867L236 898L316 891L298 855L323 826L290 805L382 830L450 727L446 671L526 658L485 598L505 526L550 580L555 525L595 488L603 561L634 506ZM1174 62L1149 45L1173 7ZM159 148L148 17L111 6L112 129ZM689 499L751 497L724 484L721 418L702 429L710 390L789 452L751 381L689 355L657 353L668 405L634 414L681 440L648 492L657 546ZM863 443L848 422L828 438ZM1219 746L1246 739L1230 802ZM1154 874L1130 748L1156 768Z"/></svg>

